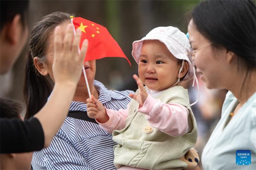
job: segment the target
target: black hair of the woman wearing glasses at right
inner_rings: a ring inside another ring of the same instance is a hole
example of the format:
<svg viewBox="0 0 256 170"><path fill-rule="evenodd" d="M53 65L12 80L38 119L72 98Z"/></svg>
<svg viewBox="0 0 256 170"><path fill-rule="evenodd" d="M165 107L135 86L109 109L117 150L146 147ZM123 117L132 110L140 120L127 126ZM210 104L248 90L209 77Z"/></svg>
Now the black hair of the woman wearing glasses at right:
<svg viewBox="0 0 256 170"><path fill-rule="evenodd" d="M245 80L256 68L256 7L251 0L207 0L191 12L191 18L213 49L227 48L237 55L237 69L246 71Z"/></svg>

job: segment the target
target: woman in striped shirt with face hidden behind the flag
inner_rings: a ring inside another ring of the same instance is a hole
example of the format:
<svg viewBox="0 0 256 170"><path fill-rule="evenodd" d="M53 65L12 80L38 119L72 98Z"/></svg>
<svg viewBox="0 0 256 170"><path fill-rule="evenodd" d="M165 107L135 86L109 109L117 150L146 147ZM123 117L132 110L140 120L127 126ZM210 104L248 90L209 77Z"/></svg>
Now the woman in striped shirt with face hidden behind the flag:
<svg viewBox="0 0 256 170"><path fill-rule="evenodd" d="M70 23L70 14L54 12L43 17L32 28L24 86L26 118L40 110L52 92L52 84L55 82L52 75L52 61L55 58L53 30L59 26L64 36L63 30ZM94 80L95 60L85 62L84 67L92 95L107 108L125 109L131 100L128 94L132 91L108 90ZM33 169L116 169L113 164L113 146L116 143L111 135L100 129L95 119L87 116L86 99L89 97L82 74L69 114L52 143L48 148L34 152Z"/></svg>

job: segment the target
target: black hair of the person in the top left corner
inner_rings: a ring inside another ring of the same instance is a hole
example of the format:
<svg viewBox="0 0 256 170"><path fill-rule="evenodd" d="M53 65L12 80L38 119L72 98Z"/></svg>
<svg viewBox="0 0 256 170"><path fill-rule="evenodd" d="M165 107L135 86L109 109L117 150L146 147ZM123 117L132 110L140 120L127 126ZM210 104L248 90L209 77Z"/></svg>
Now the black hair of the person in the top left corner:
<svg viewBox="0 0 256 170"><path fill-rule="evenodd" d="M24 27L25 21L28 20L28 0L1 0L0 1L0 31L5 24L12 21L15 15L20 14L21 22Z"/></svg>

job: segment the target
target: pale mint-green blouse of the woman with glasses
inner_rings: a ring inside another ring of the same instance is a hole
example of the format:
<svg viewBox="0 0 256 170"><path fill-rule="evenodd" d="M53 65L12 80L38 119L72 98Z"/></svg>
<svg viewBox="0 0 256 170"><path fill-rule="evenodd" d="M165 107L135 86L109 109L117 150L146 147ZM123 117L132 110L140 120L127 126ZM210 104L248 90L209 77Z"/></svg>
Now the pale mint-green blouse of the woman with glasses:
<svg viewBox="0 0 256 170"><path fill-rule="evenodd" d="M201 159L204 170L256 169L256 93L225 127L236 102L236 97L229 91L223 103L221 119L204 147ZM236 165L236 150L250 150L251 165Z"/></svg>

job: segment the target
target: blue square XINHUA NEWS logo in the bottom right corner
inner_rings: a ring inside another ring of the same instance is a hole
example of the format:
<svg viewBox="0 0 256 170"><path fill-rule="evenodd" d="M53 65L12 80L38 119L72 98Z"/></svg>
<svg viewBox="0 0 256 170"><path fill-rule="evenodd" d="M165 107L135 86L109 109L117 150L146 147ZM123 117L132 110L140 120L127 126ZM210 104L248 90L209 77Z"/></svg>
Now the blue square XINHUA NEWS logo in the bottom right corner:
<svg viewBox="0 0 256 170"><path fill-rule="evenodd" d="M237 150L236 151L236 165L251 165L251 151Z"/></svg>

